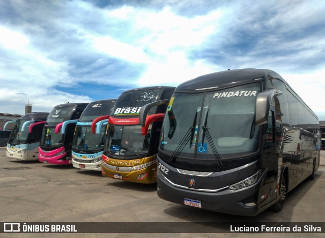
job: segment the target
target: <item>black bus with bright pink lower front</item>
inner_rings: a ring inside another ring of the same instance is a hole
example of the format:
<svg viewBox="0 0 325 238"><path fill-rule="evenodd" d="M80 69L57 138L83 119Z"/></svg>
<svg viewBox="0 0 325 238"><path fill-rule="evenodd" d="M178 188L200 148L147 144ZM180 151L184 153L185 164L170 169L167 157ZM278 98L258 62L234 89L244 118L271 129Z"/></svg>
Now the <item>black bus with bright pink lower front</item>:
<svg viewBox="0 0 325 238"><path fill-rule="evenodd" d="M88 103L56 105L47 117L39 151L39 161L48 164L72 164L71 149L75 127Z"/></svg>

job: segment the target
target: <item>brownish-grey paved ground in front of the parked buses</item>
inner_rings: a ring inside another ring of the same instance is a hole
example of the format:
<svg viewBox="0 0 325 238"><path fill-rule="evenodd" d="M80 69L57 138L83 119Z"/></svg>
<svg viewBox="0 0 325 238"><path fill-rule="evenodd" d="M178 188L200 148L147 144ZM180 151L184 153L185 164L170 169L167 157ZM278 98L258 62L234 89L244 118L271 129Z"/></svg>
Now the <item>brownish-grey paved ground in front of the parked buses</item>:
<svg viewBox="0 0 325 238"><path fill-rule="evenodd" d="M325 222L325 151L315 180L306 180L287 194L280 213L265 211L256 217L240 217L194 209L161 200L156 184L144 185L104 178L101 172L78 170L72 165L48 165L15 161L0 147L1 222ZM159 223L160 224L160 223ZM163 227L161 230L168 229ZM176 223L177 224L177 223ZM180 224L180 223L178 223ZM188 223L191 224L191 223ZM205 227L203 227L204 229ZM324 232L324 231L323 231ZM40 233L19 233L17 237L44 237ZM261 237L250 233L93 233L46 234L66 237ZM13 234L0 233L1 237ZM265 233L266 237L324 237L324 233Z"/></svg>

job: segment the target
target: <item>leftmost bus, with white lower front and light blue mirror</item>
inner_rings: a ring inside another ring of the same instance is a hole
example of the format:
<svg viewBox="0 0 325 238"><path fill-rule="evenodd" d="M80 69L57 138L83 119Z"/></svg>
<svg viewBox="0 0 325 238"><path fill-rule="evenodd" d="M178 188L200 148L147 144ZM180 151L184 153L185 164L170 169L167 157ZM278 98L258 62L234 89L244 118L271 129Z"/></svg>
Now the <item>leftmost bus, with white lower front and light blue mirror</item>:
<svg viewBox="0 0 325 238"><path fill-rule="evenodd" d="M4 130L9 124L15 124L8 138L7 157L21 161L38 160L39 144L48 114L48 112L31 112L21 116L17 121L5 124Z"/></svg>

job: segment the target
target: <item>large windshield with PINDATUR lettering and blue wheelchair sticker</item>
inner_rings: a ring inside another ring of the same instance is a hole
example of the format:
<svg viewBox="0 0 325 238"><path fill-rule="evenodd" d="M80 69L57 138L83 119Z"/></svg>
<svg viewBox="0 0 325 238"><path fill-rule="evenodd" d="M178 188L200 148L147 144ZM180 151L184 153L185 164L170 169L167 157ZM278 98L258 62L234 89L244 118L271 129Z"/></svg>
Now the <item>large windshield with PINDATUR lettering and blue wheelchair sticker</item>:
<svg viewBox="0 0 325 238"><path fill-rule="evenodd" d="M199 160L255 151L259 92L261 84L254 83L214 92L175 93L165 115L160 151Z"/></svg>

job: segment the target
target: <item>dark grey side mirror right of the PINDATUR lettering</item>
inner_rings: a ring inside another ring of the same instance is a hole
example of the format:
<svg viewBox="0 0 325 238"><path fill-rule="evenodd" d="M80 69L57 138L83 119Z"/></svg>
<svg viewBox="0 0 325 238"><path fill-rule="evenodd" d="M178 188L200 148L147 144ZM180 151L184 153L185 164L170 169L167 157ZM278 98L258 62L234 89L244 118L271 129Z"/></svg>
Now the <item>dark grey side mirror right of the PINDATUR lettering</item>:
<svg viewBox="0 0 325 238"><path fill-rule="evenodd" d="M281 94L281 90L267 89L257 95L255 117L256 125L262 125L267 123L270 110L270 102L272 101L272 98L274 96L278 96Z"/></svg>

